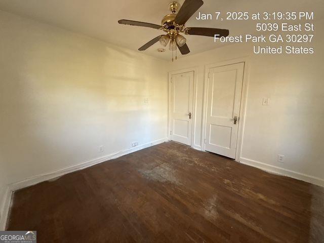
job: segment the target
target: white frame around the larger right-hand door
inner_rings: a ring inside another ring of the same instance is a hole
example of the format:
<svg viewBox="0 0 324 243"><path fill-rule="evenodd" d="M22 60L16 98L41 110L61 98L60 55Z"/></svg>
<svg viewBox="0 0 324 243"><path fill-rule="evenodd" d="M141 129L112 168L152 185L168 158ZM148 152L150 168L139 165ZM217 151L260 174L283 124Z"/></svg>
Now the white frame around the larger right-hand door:
<svg viewBox="0 0 324 243"><path fill-rule="evenodd" d="M239 108L239 120L238 120L238 129L237 129L237 141L236 141L236 153L235 153L235 161L239 162L241 147L242 147L242 136L244 131L245 124L245 115L246 115L246 100L248 94L248 81L249 81L249 73L250 73L250 56L245 56L241 58L230 59L226 61L220 61L213 64L205 65L205 80L204 80L204 102L203 102L203 131L201 134L201 148L203 151L205 150L205 139L206 139L206 123L207 123L207 98L208 98L208 72L209 69L214 67L221 67L231 64L236 64L240 62L244 62L244 73L243 73L243 83L242 83L242 93L240 100L240 108Z"/></svg>

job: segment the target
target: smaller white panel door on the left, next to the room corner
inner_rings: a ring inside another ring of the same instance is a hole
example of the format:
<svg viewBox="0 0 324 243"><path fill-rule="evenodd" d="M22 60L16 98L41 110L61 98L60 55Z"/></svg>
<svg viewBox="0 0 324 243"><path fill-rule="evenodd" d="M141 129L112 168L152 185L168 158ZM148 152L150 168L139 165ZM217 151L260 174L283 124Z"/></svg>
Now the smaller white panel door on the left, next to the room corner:
<svg viewBox="0 0 324 243"><path fill-rule="evenodd" d="M171 140L191 145L193 74L184 72L171 76Z"/></svg>

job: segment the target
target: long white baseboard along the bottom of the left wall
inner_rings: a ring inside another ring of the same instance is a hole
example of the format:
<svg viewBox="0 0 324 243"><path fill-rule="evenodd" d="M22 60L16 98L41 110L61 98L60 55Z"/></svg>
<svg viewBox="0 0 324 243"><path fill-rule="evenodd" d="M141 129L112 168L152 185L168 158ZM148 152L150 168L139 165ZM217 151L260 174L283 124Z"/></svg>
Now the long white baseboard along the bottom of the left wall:
<svg viewBox="0 0 324 243"><path fill-rule="evenodd" d="M56 178L56 177L59 177L59 176L74 172L74 171L82 170L82 169L85 169L87 167L90 167L90 166L102 163L104 161L107 161L109 159L117 158L117 157L123 156L125 154L129 154L129 153L141 150L143 148L147 148L147 147L150 147L152 145L156 145L156 144L163 143L163 142L166 142L166 141L168 141L168 138L158 139L158 140L155 140L155 141L152 141L152 142L149 142L149 143L145 143L145 144L133 147L133 148L120 150L120 151L112 153L112 154L108 154L108 155L105 155L105 156L102 156L102 157L99 157L99 158L94 158L94 159L91 159L91 160L88 160L88 161L84 161L82 163L78 163L78 164L75 164L75 165L72 165L72 166L69 166L69 167L65 167L65 168L62 168L60 170L52 171L52 172L42 174L42 175L37 175L37 176L34 176L34 177L29 177L29 178L26 178L26 179L24 179L22 181L18 181L18 182L10 184L9 189L11 191L15 191L15 190L27 187L27 186L37 184L39 182L47 181L47 180L50 180L50 179L53 179L53 178Z"/></svg>

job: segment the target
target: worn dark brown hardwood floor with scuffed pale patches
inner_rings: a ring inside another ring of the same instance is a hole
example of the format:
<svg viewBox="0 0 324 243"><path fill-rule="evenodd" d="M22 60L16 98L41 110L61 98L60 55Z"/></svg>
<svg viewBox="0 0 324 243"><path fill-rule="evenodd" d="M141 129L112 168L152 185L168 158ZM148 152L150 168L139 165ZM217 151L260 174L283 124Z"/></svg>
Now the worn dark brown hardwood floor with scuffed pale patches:
<svg viewBox="0 0 324 243"><path fill-rule="evenodd" d="M37 242L324 242L324 188L167 142L14 193Z"/></svg>

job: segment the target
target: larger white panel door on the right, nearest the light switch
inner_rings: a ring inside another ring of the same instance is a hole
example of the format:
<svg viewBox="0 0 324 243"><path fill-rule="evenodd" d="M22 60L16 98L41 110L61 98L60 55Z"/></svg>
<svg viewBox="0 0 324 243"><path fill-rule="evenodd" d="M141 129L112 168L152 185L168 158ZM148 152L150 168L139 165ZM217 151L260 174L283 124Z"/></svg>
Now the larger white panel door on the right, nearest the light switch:
<svg viewBox="0 0 324 243"><path fill-rule="evenodd" d="M235 158L244 63L209 69L205 150Z"/></svg>

